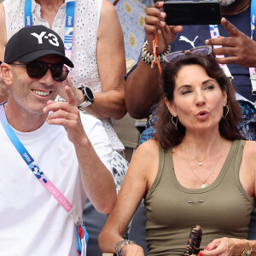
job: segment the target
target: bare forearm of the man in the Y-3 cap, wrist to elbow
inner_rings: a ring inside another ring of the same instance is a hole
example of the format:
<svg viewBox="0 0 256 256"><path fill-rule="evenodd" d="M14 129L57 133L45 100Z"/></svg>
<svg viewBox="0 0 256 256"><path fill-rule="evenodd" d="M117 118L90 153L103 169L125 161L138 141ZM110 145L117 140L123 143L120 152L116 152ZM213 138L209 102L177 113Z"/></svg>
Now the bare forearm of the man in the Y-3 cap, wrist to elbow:
<svg viewBox="0 0 256 256"><path fill-rule="evenodd" d="M116 203L113 177L87 137L74 143L86 195L98 212L109 213Z"/></svg>

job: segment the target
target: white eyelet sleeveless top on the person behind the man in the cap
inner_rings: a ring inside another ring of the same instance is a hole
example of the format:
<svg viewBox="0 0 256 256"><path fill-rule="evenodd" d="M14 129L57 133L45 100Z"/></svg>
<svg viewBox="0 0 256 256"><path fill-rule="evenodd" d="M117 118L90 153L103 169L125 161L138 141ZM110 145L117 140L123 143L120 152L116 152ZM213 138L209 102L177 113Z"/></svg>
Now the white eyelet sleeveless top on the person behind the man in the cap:
<svg viewBox="0 0 256 256"><path fill-rule="evenodd" d="M64 38L66 6L67 2L70 1L72 0L65 0L65 3L61 5L52 26L52 29L57 32L61 38ZM3 6L5 9L8 41L15 32L25 26L25 0L4 0ZM74 68L70 70L69 74L73 84L77 88L80 86L88 86L93 92L102 91L96 60L97 31L101 9L102 0L76 0L72 51ZM41 6L36 3L35 0L32 0L32 23L33 25L49 27L48 21L41 18ZM123 150L124 146L113 130L111 119L103 118L101 120L111 141L112 148L118 151Z"/></svg>

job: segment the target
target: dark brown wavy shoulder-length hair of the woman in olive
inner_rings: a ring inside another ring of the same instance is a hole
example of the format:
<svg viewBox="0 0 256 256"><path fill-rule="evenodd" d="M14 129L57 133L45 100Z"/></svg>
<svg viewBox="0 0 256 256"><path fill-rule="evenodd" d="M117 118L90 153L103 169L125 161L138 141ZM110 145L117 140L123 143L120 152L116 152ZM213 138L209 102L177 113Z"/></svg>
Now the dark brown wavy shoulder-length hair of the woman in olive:
<svg viewBox="0 0 256 256"><path fill-rule="evenodd" d="M158 120L155 122L156 133L154 136L159 141L160 146L164 149L172 148L181 143L185 135L186 128L179 121L177 121L177 129L172 124L172 114L166 107L165 97L169 102L173 101L173 91L176 84L177 73L182 67L189 65L204 67L207 75L212 79L216 79L220 89L223 91L226 90L227 92L229 113L225 119L222 118L219 121L218 127L221 136L231 141L244 139L237 128L239 122L242 122L241 108L236 102L236 93L230 79L225 76L222 68L219 67L212 55L186 55L184 59L166 63L164 67L162 67L162 76L160 79L160 93L162 97L158 106ZM226 111L227 108L224 108L224 115Z"/></svg>

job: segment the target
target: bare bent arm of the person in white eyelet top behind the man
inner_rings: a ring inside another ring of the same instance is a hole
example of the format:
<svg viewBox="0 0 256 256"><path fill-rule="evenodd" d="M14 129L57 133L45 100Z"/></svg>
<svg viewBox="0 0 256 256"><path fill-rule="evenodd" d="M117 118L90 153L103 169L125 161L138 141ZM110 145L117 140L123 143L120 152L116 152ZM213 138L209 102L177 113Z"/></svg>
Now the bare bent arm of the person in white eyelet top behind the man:
<svg viewBox="0 0 256 256"><path fill-rule="evenodd" d="M119 18L112 3L102 2L96 58L102 92L84 110L99 118L121 119L125 113L125 46Z"/></svg>

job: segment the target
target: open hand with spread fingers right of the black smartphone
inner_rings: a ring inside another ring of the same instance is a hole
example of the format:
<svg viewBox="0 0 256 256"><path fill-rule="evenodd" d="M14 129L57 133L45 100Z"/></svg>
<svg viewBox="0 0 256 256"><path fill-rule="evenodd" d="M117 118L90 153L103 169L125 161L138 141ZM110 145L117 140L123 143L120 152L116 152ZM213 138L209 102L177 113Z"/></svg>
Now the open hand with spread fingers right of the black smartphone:
<svg viewBox="0 0 256 256"><path fill-rule="evenodd" d="M207 39L207 45L223 45L213 49L214 55L230 55L216 58L220 64L237 64L243 67L256 67L256 42L239 31L230 21L222 18L221 24L230 34L229 38L219 37Z"/></svg>

